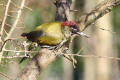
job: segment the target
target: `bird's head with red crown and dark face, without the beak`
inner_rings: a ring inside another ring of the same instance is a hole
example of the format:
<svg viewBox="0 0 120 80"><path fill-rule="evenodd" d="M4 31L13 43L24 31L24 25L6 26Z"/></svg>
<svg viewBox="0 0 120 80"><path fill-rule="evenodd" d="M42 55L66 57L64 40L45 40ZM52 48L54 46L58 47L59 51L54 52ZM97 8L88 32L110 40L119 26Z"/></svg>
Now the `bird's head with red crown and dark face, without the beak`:
<svg viewBox="0 0 120 80"><path fill-rule="evenodd" d="M78 24L74 21L65 21L61 26L64 32L69 30L72 34L77 34L80 31Z"/></svg>

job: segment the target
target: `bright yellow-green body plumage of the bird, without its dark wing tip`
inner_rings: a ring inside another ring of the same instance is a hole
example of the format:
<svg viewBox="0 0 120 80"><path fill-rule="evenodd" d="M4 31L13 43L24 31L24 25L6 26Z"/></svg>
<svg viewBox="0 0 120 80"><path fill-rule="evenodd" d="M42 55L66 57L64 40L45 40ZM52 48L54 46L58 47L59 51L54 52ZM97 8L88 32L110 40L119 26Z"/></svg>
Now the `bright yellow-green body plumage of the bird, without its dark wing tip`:
<svg viewBox="0 0 120 80"><path fill-rule="evenodd" d="M45 32L44 36L38 38L41 44L57 45L63 40L61 22L48 22L38 26L36 30Z"/></svg>

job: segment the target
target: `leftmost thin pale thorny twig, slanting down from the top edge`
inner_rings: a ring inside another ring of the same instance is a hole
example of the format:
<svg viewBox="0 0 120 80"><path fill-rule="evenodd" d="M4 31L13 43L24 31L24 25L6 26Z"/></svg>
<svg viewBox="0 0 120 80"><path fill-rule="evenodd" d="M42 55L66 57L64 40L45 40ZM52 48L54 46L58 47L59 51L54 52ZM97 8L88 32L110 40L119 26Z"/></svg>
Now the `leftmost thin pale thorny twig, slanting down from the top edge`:
<svg viewBox="0 0 120 80"><path fill-rule="evenodd" d="M4 30L5 21L6 21L6 19L7 19L7 15L8 15L8 9L9 9L10 2L11 2L11 0L8 0L8 3L7 3L7 5L6 5L6 9L5 9L5 16L4 16L4 18L3 18L3 22L2 22L2 26L1 26L1 31L0 31L1 40L2 40L2 35L3 35L3 30Z"/></svg>

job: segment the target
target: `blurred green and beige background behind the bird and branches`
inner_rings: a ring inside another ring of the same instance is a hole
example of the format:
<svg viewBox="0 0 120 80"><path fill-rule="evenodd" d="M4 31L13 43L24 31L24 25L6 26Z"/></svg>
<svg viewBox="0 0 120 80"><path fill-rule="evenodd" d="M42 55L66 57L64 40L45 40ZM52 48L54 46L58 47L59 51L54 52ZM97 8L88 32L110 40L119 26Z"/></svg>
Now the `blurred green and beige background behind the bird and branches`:
<svg viewBox="0 0 120 80"><path fill-rule="evenodd" d="M0 0L0 23L4 17L5 5L8 0ZM14 22L19 3L21 0L12 0L9 15L7 17L5 30L10 30L10 25ZM73 20L77 20L82 14L89 13L102 0L72 0L71 9L78 10L71 12ZM13 38L20 38L22 32L29 32L44 22L54 21L55 5L54 0L26 0L25 5L31 9L24 8L19 20L18 28L14 30ZM9 24L9 25L7 25ZM120 57L120 6L111 13L97 20L84 32L91 38L76 37L72 53L83 55L98 55L108 57ZM0 24L1 27L1 24ZM103 30L104 29L104 30ZM5 34L4 34L5 35ZM20 40L20 41L23 41ZM13 49L15 44L7 46ZM15 48L14 48L15 49ZM20 48L19 48L20 49ZM4 55L17 55L24 53L5 52ZM67 59L60 57L42 72L38 80L120 80L119 62L107 58L75 57L77 60L76 68ZM18 64L20 58L3 59L0 64L0 72L16 77L29 59L22 64ZM0 80L8 80L0 75Z"/></svg>

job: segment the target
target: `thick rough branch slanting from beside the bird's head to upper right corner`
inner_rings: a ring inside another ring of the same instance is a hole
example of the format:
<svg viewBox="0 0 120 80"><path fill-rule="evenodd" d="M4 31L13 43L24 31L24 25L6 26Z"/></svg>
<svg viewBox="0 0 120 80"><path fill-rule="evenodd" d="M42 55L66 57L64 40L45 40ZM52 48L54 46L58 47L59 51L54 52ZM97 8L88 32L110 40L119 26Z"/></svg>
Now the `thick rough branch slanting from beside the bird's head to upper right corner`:
<svg viewBox="0 0 120 80"><path fill-rule="evenodd" d="M89 25L94 23L96 20L111 12L115 7L120 5L120 0L105 0L97 5L97 7L90 13L80 17L80 28L84 31Z"/></svg>

